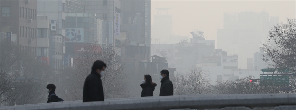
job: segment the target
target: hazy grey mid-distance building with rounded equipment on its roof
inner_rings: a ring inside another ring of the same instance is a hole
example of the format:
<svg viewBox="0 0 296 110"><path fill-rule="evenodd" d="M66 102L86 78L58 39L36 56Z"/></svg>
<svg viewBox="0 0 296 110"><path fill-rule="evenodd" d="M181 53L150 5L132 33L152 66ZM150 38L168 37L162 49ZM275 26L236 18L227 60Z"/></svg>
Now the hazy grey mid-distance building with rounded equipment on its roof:
<svg viewBox="0 0 296 110"><path fill-rule="evenodd" d="M162 57L165 55L169 67L185 73L196 67L198 60L215 52L215 40L205 40L202 31L192 32L192 38L187 40L175 44L151 44L151 54Z"/></svg>

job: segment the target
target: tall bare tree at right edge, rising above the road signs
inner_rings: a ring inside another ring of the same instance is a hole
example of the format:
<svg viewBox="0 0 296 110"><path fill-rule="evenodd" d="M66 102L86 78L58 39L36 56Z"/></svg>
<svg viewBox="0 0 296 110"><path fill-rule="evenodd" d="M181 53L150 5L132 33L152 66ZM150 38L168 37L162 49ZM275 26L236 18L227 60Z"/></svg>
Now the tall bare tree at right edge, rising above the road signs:
<svg viewBox="0 0 296 110"><path fill-rule="evenodd" d="M274 26L263 44L263 60L274 68L296 71L296 19Z"/></svg>

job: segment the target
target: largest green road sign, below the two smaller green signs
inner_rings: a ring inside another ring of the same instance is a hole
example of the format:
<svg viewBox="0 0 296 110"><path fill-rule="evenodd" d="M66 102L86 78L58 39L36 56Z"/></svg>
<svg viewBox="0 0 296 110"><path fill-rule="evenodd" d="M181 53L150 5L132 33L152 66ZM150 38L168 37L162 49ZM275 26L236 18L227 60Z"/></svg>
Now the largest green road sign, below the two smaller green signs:
<svg viewBox="0 0 296 110"><path fill-rule="evenodd" d="M289 76L260 76L260 86L289 86Z"/></svg>

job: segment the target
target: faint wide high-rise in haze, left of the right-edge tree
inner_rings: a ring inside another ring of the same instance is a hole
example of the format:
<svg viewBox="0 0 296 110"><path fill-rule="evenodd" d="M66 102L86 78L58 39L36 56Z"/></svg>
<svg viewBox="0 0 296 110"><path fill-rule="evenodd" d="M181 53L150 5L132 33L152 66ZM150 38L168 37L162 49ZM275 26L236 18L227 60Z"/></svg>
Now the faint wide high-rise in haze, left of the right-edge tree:
<svg viewBox="0 0 296 110"><path fill-rule="evenodd" d="M224 13L224 29L217 30L217 48L238 54L239 67L247 69L247 58L252 58L278 22L278 17L267 12Z"/></svg>

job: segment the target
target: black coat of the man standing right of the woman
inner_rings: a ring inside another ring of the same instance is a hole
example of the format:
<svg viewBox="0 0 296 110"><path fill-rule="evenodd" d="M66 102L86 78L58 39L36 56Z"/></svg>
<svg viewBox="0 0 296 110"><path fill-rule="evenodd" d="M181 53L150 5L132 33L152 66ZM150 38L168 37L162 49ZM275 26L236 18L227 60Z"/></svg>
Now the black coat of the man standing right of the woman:
<svg viewBox="0 0 296 110"><path fill-rule="evenodd" d="M168 76L161 79L161 86L159 96L173 96L174 95L174 88L173 83L170 81Z"/></svg>

